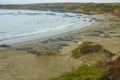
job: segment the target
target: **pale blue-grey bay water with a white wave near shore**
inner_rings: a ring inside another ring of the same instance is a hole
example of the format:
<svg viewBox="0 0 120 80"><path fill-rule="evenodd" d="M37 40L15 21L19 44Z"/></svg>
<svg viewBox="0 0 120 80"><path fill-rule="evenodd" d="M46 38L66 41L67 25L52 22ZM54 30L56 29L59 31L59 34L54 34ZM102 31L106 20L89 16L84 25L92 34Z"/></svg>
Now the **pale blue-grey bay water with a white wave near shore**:
<svg viewBox="0 0 120 80"><path fill-rule="evenodd" d="M87 15L38 10L0 10L0 44L45 38L89 26Z"/></svg>

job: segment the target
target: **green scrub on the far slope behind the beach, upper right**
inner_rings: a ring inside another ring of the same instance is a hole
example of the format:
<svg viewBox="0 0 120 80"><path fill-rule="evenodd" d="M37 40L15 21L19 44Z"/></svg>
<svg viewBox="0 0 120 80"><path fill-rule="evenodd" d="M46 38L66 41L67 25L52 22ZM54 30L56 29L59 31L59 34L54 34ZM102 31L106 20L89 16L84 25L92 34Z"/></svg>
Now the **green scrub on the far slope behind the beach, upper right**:
<svg viewBox="0 0 120 80"><path fill-rule="evenodd" d="M75 12L84 12L89 14L104 14L104 13L112 13L114 14L115 9L119 9L118 5L110 5L110 4L89 4L86 6L82 6L78 9L75 9Z"/></svg>

